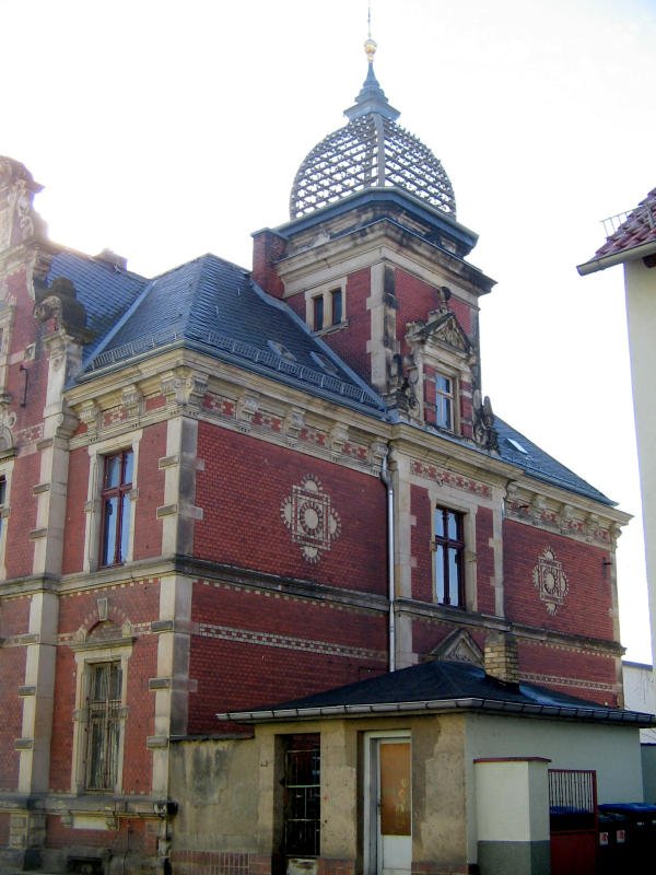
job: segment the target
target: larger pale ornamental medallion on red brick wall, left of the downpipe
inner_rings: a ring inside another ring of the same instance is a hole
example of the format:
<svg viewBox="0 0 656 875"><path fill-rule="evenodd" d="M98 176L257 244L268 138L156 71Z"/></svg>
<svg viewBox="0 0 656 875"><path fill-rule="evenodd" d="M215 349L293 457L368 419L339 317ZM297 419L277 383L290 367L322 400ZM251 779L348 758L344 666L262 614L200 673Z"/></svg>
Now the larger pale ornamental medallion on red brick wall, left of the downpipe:
<svg viewBox="0 0 656 875"><path fill-rule="evenodd" d="M341 530L330 495L324 492L316 477L306 476L301 486L292 488L292 494L280 506L280 515L292 533L292 541L301 547L307 562L318 562Z"/></svg>

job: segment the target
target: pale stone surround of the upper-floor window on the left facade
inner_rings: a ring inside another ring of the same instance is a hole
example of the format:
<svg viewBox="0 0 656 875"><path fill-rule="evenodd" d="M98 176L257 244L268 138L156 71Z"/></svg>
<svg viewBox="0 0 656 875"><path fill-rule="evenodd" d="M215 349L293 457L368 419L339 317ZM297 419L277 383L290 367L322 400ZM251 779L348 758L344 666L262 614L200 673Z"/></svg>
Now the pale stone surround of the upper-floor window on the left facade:
<svg viewBox="0 0 656 875"><path fill-rule="evenodd" d="M119 453L122 450L131 450L133 454L132 467L132 489L130 490L130 532L128 536L128 550L124 559L124 564L133 561L134 556L134 522L137 518L137 499L139 497L139 443L143 436L140 429L128 434L108 438L105 441L90 444L89 446L89 486L86 492L86 525L84 527L84 571L86 573L97 571L101 565L101 538L103 523L103 480L105 476L106 456ZM112 568L107 565L106 568Z"/></svg>

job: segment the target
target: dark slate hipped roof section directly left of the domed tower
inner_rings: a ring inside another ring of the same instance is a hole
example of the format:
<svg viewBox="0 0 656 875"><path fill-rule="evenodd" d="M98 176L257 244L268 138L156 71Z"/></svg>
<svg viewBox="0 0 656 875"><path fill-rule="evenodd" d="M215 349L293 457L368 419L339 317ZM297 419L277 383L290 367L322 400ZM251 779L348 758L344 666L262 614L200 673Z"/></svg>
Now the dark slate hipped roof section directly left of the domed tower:
<svg viewBox="0 0 656 875"><path fill-rule="evenodd" d="M178 342L379 416L384 412L379 396L293 311L258 289L248 271L214 255L152 280L86 370L94 372ZM329 371L317 357L329 363Z"/></svg>

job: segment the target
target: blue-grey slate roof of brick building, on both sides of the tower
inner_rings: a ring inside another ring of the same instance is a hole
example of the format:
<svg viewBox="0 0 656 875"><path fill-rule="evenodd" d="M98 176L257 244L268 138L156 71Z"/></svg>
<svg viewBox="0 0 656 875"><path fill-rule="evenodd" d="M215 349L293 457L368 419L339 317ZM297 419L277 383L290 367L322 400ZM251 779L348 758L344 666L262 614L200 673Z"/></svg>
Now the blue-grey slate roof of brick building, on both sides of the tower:
<svg viewBox="0 0 656 875"><path fill-rule="evenodd" d="M102 258L63 250L52 259L48 284L57 277L72 280L87 312L87 327L94 331L79 381L184 343L339 404L385 416L383 399L286 304L261 291L247 270L214 255L149 280ZM504 462L544 482L612 504L503 420L497 419L495 428Z"/></svg>

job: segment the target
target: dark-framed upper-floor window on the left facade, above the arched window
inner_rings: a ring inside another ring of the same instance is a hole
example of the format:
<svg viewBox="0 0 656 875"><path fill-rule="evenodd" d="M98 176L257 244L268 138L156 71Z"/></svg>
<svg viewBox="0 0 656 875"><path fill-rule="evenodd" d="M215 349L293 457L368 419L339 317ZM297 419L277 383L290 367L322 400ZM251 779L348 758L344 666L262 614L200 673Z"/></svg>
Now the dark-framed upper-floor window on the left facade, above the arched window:
<svg viewBox="0 0 656 875"><path fill-rule="evenodd" d="M128 555L133 469L134 454L131 450L105 456L101 495L101 565L118 565Z"/></svg>

